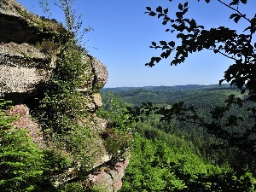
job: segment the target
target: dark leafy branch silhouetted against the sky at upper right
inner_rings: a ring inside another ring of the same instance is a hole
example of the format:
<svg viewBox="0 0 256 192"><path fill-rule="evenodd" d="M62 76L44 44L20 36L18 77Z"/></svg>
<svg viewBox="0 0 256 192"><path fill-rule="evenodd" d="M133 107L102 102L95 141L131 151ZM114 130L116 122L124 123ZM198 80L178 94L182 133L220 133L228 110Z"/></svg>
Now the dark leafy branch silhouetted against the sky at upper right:
<svg viewBox="0 0 256 192"><path fill-rule="evenodd" d="M207 3L210 0L205 0ZM172 2L172 1L171 1ZM244 33L238 34L235 29L219 26L218 28L205 29L204 26L197 25L194 19L184 18L184 15L189 10L189 3L179 3L177 6L176 18L172 19L168 16L169 9L163 9L161 6L153 10L147 7L145 14L157 16L162 19L162 25L169 24L171 28L166 29L166 32L177 33L176 38L181 39L181 44L175 41L169 43L161 40L160 44L152 42L150 48L162 49L160 56L153 56L151 61L146 63L146 66L153 67L162 59L169 58L172 53L174 57L171 61L172 65L183 63L189 54L200 52L203 49L212 50L215 54L224 55L225 57L236 61L224 72L224 79L219 81L227 81L231 86L235 85L245 93L248 90L248 99L256 101L256 70L254 63L256 61L255 49L256 44L253 44L253 34L256 32L256 15L250 20L246 15L243 15L238 9L239 3L246 4L247 0L233 0L230 4L224 3L221 0L218 2L228 9L236 13L230 15L230 19L234 19L236 23L243 18L250 25L246 27ZM236 5L235 9L233 6ZM250 32L247 34L247 30Z"/></svg>

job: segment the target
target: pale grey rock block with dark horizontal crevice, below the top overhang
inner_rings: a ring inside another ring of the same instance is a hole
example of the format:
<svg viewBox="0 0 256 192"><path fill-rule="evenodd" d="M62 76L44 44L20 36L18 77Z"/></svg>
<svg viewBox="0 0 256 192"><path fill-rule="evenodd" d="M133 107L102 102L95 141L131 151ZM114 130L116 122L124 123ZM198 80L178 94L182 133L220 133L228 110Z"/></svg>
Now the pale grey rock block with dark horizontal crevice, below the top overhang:
<svg viewBox="0 0 256 192"><path fill-rule="evenodd" d="M53 67L54 61L32 45L1 43L0 96L22 102L49 80Z"/></svg>

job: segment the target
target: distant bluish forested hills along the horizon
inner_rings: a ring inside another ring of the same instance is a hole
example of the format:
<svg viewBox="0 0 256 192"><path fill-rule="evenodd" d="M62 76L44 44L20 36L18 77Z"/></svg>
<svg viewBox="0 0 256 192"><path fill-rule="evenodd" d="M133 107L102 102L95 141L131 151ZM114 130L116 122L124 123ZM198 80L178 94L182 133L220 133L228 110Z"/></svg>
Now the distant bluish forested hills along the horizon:
<svg viewBox="0 0 256 192"><path fill-rule="evenodd" d="M104 88L102 94L112 91L124 102L133 105L141 105L142 102L154 104L172 104L184 101L195 106L213 105L224 101L230 94L238 95L236 88L230 88L230 84L199 85L187 84L176 86L145 86L145 87L118 87ZM199 102L200 101L200 102Z"/></svg>

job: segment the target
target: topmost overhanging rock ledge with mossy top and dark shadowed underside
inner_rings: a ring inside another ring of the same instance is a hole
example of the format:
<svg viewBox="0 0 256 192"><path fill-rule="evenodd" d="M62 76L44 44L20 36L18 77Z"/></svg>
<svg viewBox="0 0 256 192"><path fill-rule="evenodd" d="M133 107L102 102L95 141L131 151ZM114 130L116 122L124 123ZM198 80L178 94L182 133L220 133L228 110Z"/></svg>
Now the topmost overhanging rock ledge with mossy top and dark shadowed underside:
<svg viewBox="0 0 256 192"><path fill-rule="evenodd" d="M44 38L63 37L67 30L55 20L41 20L15 0L0 1L0 42L36 43Z"/></svg>

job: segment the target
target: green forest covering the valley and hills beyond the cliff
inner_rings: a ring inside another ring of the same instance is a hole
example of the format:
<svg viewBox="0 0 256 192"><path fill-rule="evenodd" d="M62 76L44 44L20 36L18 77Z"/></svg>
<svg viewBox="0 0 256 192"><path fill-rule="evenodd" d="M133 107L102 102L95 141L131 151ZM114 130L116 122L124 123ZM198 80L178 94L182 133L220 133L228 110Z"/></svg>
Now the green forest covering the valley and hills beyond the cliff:
<svg viewBox="0 0 256 192"><path fill-rule="evenodd" d="M200 108L208 118L216 105L224 105L230 95L241 96L230 84L151 86L140 88L105 88L103 102L115 98L120 106L137 108L143 102L152 106L172 106L183 101L187 106ZM226 117L253 108L248 102L242 108L232 108ZM140 106L143 108L143 106ZM113 110L112 113L116 113ZM232 131L243 131L253 122L240 122ZM239 148L230 147L224 139L207 132L201 126L182 119L160 120L151 113L138 121L134 130L131 162L125 172L120 191L254 191L256 184L254 156Z"/></svg>

